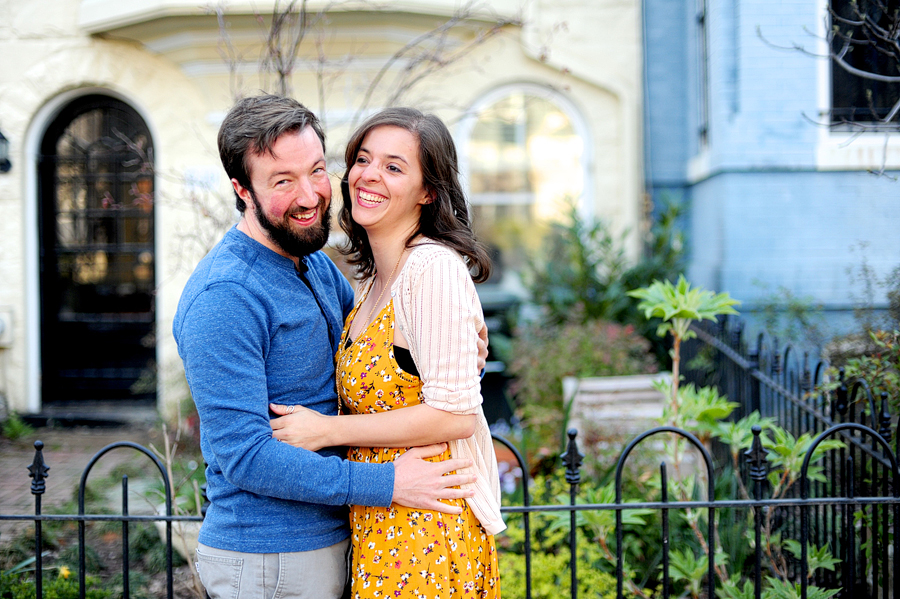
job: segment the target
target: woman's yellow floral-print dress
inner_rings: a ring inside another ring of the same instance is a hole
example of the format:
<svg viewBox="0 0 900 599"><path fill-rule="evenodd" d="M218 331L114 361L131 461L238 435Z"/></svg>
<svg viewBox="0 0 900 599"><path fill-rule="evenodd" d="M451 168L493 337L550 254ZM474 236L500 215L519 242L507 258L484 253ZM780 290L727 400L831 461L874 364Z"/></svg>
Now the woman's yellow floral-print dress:
<svg viewBox="0 0 900 599"><path fill-rule="evenodd" d="M365 299L365 298L363 298ZM361 300L362 301L362 300ZM403 371L394 358L393 302L348 345L347 318L338 351L338 394L342 410L364 414L422 402L422 381ZM349 459L391 462L406 449L353 447ZM450 450L436 460L450 459ZM465 500L459 516L414 510L350 506L353 599L500 597L500 570L493 535L488 535Z"/></svg>

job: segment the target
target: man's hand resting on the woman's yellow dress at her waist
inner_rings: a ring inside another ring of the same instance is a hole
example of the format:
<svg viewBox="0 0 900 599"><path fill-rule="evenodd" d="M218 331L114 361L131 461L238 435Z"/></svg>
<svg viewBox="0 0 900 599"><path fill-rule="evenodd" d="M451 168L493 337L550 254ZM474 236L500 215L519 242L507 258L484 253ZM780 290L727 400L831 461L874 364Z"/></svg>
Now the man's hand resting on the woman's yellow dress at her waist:
<svg viewBox="0 0 900 599"><path fill-rule="evenodd" d="M394 503L405 507L461 514L462 508L447 505L440 499L464 499L475 494L471 489L453 489L474 483L472 474L447 474L453 470L471 468L472 460L453 459L427 462L423 458L441 455L446 443L414 447L394 460ZM447 476L444 476L447 474Z"/></svg>

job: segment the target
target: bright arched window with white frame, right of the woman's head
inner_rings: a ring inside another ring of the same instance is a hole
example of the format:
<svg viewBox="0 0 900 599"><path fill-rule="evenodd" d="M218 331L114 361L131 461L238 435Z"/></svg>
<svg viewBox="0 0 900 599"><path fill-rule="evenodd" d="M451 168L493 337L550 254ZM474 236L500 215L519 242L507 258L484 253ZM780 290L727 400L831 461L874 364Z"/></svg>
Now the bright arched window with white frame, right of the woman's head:
<svg viewBox="0 0 900 599"><path fill-rule="evenodd" d="M570 204L590 206L585 127L560 94L520 85L482 98L460 137L473 225L494 252L492 280L515 278L550 223Z"/></svg>

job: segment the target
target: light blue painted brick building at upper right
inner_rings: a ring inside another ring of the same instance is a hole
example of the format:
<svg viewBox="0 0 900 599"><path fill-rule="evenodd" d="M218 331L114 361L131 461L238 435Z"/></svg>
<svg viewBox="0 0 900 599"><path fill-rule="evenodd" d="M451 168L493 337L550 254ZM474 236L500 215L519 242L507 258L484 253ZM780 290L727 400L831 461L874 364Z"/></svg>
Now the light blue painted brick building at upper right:
<svg viewBox="0 0 900 599"><path fill-rule="evenodd" d="M840 124L827 13L827 0L647 0L645 174L657 204L687 206L693 283L745 310L785 287L846 329L863 264L877 278L900 265L900 133ZM874 299L885 307L885 290Z"/></svg>

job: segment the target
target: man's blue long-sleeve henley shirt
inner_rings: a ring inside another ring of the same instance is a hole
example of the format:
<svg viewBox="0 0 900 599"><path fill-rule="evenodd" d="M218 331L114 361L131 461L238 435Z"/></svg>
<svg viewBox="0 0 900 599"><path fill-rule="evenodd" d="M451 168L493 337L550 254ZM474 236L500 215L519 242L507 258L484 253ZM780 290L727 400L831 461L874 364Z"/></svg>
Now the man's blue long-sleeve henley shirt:
<svg viewBox="0 0 900 599"><path fill-rule="evenodd" d="M178 304L173 332L208 463L205 545L319 549L348 536L346 505L391 503L392 464L348 462L272 437L270 402L337 413L334 354L353 291L322 252L304 262L309 286L293 261L232 228Z"/></svg>

